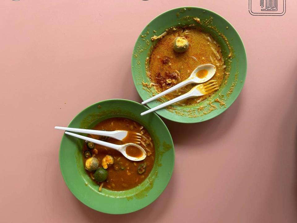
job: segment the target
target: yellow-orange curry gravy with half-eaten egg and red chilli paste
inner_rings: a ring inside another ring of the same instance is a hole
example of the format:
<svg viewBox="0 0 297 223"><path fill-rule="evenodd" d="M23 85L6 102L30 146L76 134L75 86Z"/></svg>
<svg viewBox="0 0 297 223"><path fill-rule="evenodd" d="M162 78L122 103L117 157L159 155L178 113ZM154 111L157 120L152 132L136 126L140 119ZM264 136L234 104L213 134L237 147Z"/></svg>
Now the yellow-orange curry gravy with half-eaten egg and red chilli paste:
<svg viewBox="0 0 297 223"><path fill-rule="evenodd" d="M211 80L217 80L219 86L222 84L226 65L224 64L220 45L209 33L203 32L199 28L176 27L167 30L166 35L158 38L159 40L153 47L149 57L147 70L151 85L154 86L157 93L161 93L186 80L197 66L206 63L211 63L217 68ZM181 45L178 49L177 44ZM186 85L167 94L165 98L167 100L176 98L187 93L195 85L197 84ZM178 104L196 104L209 98L214 93L188 98Z"/></svg>

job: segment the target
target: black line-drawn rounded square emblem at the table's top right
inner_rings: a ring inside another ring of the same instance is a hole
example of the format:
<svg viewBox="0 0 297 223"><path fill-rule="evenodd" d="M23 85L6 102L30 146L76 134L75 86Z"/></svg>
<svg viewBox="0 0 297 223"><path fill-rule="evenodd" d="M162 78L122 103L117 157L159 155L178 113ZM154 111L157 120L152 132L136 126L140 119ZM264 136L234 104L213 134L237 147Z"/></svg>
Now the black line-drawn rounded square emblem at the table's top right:
<svg viewBox="0 0 297 223"><path fill-rule="evenodd" d="M249 0L248 11L251 15L284 15L286 0Z"/></svg>

